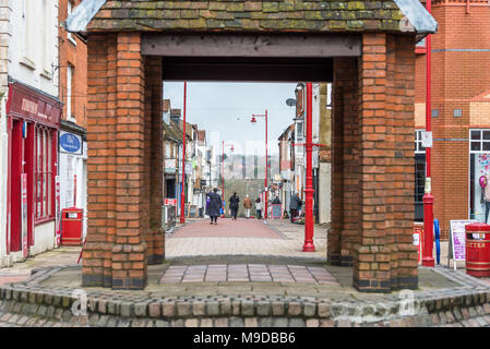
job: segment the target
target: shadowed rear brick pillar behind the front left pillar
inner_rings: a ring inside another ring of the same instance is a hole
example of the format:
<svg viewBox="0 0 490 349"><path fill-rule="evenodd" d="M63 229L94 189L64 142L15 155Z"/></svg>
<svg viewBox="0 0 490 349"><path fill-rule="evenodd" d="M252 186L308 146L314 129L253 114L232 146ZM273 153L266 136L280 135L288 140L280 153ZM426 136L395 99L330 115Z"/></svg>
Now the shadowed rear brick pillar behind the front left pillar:
<svg viewBox="0 0 490 349"><path fill-rule="evenodd" d="M162 58L145 58L145 120L147 143L148 167L148 213L150 227L145 233L147 244L146 261L148 264L160 264L164 262L165 231L162 228L163 205L163 76Z"/></svg>

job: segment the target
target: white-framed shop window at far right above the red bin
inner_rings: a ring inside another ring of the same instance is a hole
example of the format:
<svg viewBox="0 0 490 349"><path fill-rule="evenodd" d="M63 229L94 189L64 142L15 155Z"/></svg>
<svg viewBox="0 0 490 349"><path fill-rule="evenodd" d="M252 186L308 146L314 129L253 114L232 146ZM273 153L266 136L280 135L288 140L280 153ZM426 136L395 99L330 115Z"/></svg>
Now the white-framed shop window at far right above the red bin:
<svg viewBox="0 0 490 349"><path fill-rule="evenodd" d="M469 216L486 222L490 213L490 130L470 130L469 143Z"/></svg>

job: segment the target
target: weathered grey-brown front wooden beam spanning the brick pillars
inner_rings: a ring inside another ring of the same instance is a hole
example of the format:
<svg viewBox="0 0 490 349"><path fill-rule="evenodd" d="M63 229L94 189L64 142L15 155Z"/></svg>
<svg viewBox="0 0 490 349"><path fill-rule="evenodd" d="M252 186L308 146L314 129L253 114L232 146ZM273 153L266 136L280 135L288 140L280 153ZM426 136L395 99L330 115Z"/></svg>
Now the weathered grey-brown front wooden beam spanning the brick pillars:
<svg viewBox="0 0 490 349"><path fill-rule="evenodd" d="M144 34L142 52L163 57L359 57L356 34Z"/></svg>

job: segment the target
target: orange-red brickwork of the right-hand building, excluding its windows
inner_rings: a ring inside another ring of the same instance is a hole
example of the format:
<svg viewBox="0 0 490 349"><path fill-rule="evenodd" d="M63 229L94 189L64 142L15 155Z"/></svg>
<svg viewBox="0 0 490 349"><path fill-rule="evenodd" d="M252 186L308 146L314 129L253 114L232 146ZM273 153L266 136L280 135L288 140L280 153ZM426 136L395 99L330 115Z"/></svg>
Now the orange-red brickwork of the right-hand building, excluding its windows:
<svg viewBox="0 0 490 349"><path fill-rule="evenodd" d="M432 118L432 193L434 218L446 239L450 220L469 218L469 103L490 89L490 51L447 49L489 50L490 7L471 5L467 13L466 5L435 3L432 13L439 23L432 36L432 109L439 109ZM426 55L417 56L416 65L416 103L425 103ZM463 117L454 118L454 109L463 109ZM479 127L490 128L490 118Z"/></svg>

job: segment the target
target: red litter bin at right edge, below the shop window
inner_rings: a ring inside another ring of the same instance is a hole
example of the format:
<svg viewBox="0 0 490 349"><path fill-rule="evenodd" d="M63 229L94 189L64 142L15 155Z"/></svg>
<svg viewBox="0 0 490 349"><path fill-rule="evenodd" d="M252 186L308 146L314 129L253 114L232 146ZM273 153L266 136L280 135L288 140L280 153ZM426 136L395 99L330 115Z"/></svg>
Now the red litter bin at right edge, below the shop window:
<svg viewBox="0 0 490 349"><path fill-rule="evenodd" d="M490 225L466 226L466 274L490 277Z"/></svg>

